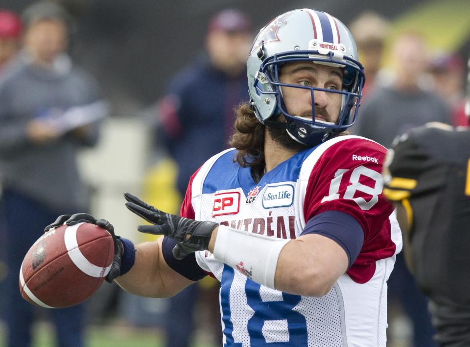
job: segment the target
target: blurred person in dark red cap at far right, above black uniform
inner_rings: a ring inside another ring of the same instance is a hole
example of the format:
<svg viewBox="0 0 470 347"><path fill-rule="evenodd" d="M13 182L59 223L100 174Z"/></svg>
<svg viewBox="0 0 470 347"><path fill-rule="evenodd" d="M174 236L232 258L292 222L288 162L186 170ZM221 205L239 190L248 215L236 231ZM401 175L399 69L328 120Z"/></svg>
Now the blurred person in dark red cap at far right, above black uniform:
<svg viewBox="0 0 470 347"><path fill-rule="evenodd" d="M468 126L465 114L465 63L457 53L439 52L431 57L430 89L449 106L453 126Z"/></svg>

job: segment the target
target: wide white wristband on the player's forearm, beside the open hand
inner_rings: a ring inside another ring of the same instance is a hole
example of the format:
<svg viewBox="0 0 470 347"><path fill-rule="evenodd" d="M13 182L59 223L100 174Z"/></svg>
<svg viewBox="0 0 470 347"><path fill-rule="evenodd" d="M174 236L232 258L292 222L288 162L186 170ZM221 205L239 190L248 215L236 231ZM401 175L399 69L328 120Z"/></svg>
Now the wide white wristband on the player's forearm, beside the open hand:
<svg viewBox="0 0 470 347"><path fill-rule="evenodd" d="M214 258L237 269L253 281L274 288L274 275L282 247L288 239L248 234L219 225Z"/></svg>

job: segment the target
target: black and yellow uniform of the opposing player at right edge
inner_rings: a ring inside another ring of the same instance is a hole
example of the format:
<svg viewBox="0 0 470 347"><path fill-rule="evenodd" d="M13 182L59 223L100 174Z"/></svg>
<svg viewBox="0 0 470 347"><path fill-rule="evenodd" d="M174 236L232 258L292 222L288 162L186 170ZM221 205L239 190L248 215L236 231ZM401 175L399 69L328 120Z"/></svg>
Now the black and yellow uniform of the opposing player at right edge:
<svg viewBox="0 0 470 347"><path fill-rule="evenodd" d="M442 346L470 346L470 130L430 123L398 138L383 194L401 203L412 272ZM406 240L405 240L406 241Z"/></svg>

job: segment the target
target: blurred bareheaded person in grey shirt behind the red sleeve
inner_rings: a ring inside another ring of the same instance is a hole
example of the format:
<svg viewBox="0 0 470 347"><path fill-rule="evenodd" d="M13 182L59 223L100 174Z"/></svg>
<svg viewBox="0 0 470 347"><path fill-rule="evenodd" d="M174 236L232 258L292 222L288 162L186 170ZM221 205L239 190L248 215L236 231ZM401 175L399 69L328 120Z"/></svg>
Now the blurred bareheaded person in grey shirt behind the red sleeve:
<svg viewBox="0 0 470 347"><path fill-rule="evenodd" d="M427 43L417 32L407 31L396 38L391 48L391 81L369 94L354 133L390 147L397 135L416 126L451 123L446 103L422 87L428 54Z"/></svg>

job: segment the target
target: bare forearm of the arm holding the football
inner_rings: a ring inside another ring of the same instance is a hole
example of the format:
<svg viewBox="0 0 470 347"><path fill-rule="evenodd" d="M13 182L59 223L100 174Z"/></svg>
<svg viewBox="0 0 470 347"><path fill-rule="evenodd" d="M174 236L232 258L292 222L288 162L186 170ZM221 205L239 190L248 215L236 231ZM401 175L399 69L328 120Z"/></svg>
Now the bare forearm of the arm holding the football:
<svg viewBox="0 0 470 347"><path fill-rule="evenodd" d="M134 265L115 280L122 289L135 295L164 298L175 295L193 283L166 265L161 251L162 240L160 238L135 246Z"/></svg>

